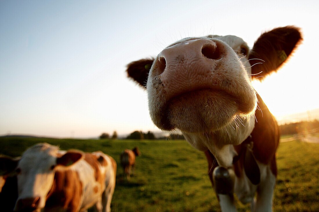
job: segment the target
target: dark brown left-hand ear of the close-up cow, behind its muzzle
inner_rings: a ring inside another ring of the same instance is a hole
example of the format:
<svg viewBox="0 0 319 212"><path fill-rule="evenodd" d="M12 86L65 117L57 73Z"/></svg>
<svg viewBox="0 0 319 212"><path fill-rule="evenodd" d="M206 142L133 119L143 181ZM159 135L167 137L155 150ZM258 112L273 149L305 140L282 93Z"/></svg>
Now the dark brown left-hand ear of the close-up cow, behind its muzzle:
<svg viewBox="0 0 319 212"><path fill-rule="evenodd" d="M146 88L148 73L152 67L154 58L133 61L127 65L127 76Z"/></svg>

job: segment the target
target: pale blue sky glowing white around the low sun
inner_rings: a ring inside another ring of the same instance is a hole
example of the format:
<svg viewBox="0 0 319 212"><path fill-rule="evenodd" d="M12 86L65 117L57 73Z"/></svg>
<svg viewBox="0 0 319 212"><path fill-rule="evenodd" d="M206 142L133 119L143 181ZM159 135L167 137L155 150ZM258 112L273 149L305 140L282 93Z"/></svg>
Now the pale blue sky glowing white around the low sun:
<svg viewBox="0 0 319 212"><path fill-rule="evenodd" d="M126 65L191 36L295 25L304 41L253 82L280 119L319 108L318 1L0 1L0 135L91 138L159 131Z"/></svg>

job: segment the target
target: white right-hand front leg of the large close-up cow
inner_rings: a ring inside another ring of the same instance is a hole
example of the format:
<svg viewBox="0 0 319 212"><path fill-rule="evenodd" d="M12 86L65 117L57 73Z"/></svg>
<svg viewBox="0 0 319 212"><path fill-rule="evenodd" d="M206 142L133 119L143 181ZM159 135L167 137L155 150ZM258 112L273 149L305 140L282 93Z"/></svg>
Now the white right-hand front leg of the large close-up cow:
<svg viewBox="0 0 319 212"><path fill-rule="evenodd" d="M272 211L272 196L276 183L276 176L271 172L270 167L267 167L267 175L263 183L257 187L257 195L252 211L254 212L270 212Z"/></svg>

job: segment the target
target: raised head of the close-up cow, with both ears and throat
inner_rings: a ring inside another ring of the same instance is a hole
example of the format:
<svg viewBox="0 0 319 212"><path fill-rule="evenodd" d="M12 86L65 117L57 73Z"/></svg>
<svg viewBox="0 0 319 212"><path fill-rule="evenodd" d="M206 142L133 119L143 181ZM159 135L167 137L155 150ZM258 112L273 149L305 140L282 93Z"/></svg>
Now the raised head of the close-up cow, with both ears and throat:
<svg viewBox="0 0 319 212"><path fill-rule="evenodd" d="M300 40L293 26L263 33L251 50L232 35L185 38L155 59L131 62L127 73L147 89L150 116L159 129L182 131L195 148L209 149L220 166L231 166L233 145L255 124L251 79L276 71Z"/></svg>

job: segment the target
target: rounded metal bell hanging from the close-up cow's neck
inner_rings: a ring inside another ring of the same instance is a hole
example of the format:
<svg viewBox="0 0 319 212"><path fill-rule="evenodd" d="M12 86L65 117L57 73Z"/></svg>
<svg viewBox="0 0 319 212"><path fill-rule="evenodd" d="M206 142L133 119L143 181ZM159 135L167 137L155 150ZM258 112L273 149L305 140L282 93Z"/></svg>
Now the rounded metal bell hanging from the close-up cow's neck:
<svg viewBox="0 0 319 212"><path fill-rule="evenodd" d="M217 166L213 171L214 187L217 194L233 194L235 173L232 169Z"/></svg>

